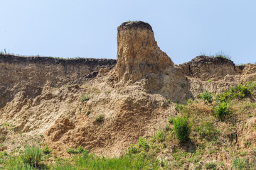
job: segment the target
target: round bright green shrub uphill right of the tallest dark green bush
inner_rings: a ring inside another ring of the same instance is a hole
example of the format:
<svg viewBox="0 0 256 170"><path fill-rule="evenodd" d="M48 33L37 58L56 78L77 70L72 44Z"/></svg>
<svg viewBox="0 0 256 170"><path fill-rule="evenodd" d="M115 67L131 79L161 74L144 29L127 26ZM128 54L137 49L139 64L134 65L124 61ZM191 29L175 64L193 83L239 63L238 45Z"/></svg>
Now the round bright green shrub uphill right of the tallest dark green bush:
<svg viewBox="0 0 256 170"><path fill-rule="evenodd" d="M215 118L220 120L224 120L227 115L230 115L230 106L226 102L219 102L217 106L213 107L213 113Z"/></svg>

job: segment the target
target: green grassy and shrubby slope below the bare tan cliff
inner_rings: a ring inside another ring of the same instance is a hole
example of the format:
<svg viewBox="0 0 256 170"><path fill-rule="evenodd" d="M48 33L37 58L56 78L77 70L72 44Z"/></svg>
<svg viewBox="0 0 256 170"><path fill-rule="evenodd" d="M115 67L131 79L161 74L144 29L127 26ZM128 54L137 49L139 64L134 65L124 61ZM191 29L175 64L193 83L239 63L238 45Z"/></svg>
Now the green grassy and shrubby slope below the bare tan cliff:
<svg viewBox="0 0 256 170"><path fill-rule="evenodd" d="M210 83L210 82L209 82ZM163 129L139 137L122 157L98 157L78 147L72 157L53 158L47 146L23 154L0 152L1 169L256 169L256 85L231 86L222 94L204 91L176 103ZM54 159L54 163L50 160Z"/></svg>

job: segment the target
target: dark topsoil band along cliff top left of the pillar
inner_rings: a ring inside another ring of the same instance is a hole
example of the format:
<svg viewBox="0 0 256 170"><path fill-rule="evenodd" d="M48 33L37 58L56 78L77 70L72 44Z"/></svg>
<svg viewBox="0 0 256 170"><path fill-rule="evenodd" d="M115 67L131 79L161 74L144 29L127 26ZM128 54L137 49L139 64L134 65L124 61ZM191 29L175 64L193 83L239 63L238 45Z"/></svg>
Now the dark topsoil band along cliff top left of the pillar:
<svg viewBox="0 0 256 170"><path fill-rule="evenodd" d="M20 57L16 55L0 55L0 62L8 63L38 63L38 64L86 64L90 66L114 66L117 60L113 59L94 59L94 58L76 58L76 59L58 59L54 57Z"/></svg>

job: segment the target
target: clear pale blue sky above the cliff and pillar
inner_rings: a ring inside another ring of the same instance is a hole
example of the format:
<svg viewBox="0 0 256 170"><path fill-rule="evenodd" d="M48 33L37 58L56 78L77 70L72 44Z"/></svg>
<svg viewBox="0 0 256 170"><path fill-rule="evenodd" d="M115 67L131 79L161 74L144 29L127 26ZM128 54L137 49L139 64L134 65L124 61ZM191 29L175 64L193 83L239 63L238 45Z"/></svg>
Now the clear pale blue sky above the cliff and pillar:
<svg viewBox="0 0 256 170"><path fill-rule="evenodd" d="M117 27L144 21L176 64L218 52L255 63L255 17L255 0L1 0L0 50L116 59Z"/></svg>

